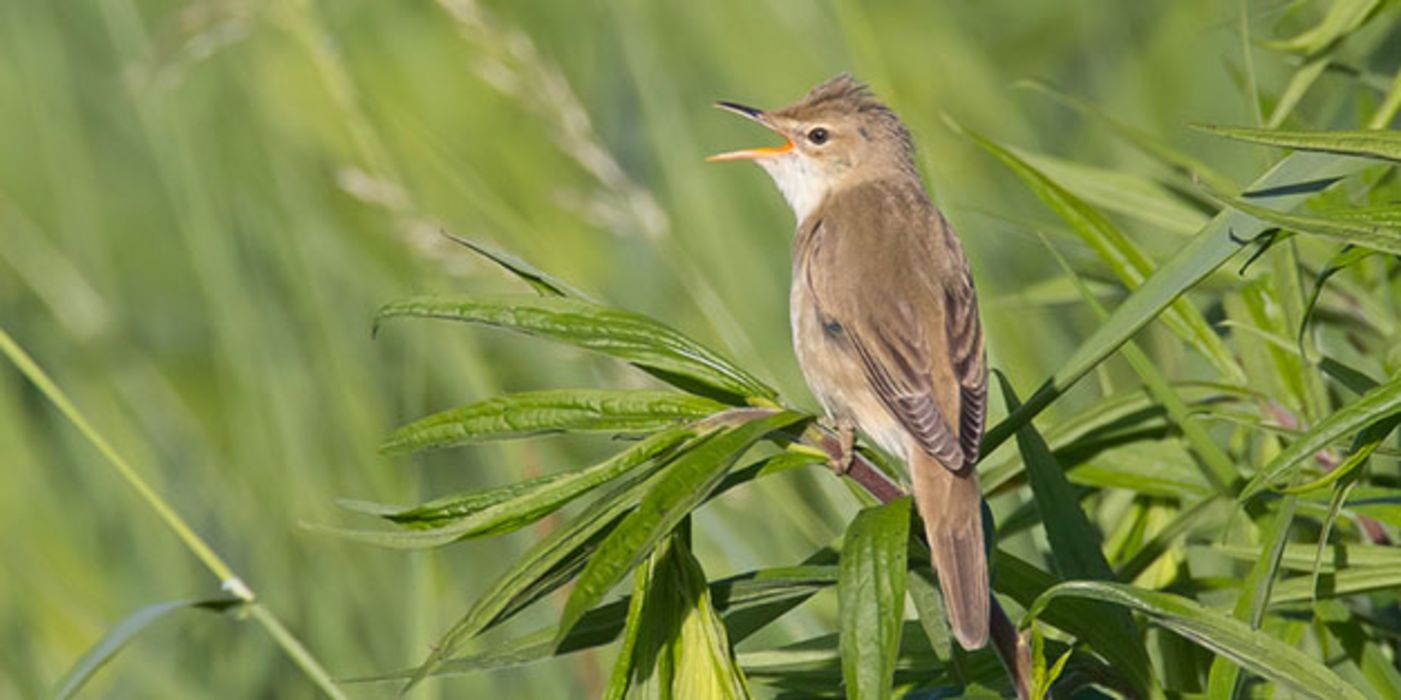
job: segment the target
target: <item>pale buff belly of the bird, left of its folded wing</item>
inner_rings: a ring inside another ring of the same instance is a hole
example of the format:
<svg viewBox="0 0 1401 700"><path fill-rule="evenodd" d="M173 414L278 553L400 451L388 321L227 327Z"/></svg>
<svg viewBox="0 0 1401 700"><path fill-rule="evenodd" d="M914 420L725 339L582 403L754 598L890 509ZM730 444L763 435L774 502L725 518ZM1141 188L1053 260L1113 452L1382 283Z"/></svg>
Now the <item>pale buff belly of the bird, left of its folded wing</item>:
<svg viewBox="0 0 1401 700"><path fill-rule="evenodd" d="M905 456L908 445L899 421L876 396L850 347L822 328L824 319L807 288L794 284L789 302L797 364L822 410L832 419L855 423L887 452Z"/></svg>

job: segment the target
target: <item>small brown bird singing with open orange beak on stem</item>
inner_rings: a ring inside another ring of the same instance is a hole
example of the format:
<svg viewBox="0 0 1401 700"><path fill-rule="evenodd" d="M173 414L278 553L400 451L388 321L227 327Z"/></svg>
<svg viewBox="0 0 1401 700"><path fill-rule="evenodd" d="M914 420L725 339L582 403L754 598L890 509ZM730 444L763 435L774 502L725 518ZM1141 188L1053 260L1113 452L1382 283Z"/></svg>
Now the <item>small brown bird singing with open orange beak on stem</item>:
<svg viewBox="0 0 1401 700"><path fill-rule="evenodd" d="M710 160L752 160L797 216L790 314L813 393L905 458L948 622L968 650L988 641L988 561L974 462L988 364L962 245L925 193L909 130L850 76L797 104L717 106L786 139Z"/></svg>

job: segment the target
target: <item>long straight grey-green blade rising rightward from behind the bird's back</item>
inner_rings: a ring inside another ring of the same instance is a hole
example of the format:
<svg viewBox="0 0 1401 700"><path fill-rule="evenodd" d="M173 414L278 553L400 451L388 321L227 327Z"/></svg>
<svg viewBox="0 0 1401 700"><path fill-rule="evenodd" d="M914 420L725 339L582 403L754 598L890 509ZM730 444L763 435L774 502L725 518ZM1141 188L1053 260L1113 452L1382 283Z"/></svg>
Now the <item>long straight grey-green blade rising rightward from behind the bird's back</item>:
<svg viewBox="0 0 1401 700"><path fill-rule="evenodd" d="M1334 155L1296 153L1279 161L1257 179L1254 196L1276 210L1289 210L1338 179L1365 168L1365 161ZM1206 279L1240 252L1238 239L1264 231L1259 220L1238 211L1222 211L1177 255L1135 290L1108 321L1096 328L1061 368L1042 384L1016 413L993 426L982 438L982 452L992 454L1017 428L1045 410L1082 377L1114 354L1126 340L1166 309L1177 297Z"/></svg>

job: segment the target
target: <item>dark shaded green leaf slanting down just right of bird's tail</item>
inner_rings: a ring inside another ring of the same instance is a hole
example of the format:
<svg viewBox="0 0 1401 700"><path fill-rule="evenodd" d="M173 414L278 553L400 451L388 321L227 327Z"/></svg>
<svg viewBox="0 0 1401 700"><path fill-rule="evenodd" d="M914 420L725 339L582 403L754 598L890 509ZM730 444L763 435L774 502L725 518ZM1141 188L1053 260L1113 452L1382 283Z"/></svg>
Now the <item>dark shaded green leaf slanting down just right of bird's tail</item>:
<svg viewBox="0 0 1401 700"><path fill-rule="evenodd" d="M1007 403L1007 412L1013 412L1021 402L1016 391L1002 372L996 372L1002 385L1002 396ZM1021 459L1027 465L1027 476L1031 482L1031 496L1041 511L1041 522L1047 531L1047 540L1051 543L1051 559L1056 570L1065 580L1093 578L1112 581L1114 570L1104 559L1100 549L1100 532L1090 525L1090 519L1080 510L1080 498L1075 489L1065 479L1065 472L1056 463L1051 448L1037 433L1035 426L1027 423L1017 431L1017 448ZM1147 661L1147 650L1143 648L1142 636L1128 612L1110 606L1098 606L1096 616L1104 619L1103 637L1087 638L1096 651L1105 658L1119 657L1129 659L1115 665L1125 678L1142 694L1150 694L1153 687L1153 671Z"/></svg>

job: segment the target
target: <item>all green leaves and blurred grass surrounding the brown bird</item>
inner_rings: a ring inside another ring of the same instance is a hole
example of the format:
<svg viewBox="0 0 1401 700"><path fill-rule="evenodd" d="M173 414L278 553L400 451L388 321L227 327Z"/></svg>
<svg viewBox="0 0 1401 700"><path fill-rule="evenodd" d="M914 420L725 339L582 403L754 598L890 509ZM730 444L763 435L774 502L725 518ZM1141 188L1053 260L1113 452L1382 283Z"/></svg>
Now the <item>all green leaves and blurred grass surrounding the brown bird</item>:
<svg viewBox="0 0 1401 700"><path fill-rule="evenodd" d="M1398 697L1398 21L0 3L0 696ZM839 70L909 123L1009 378L1017 683L908 503L824 469L792 221L702 162L754 137L706 104Z"/></svg>

